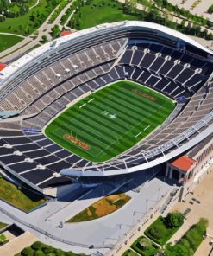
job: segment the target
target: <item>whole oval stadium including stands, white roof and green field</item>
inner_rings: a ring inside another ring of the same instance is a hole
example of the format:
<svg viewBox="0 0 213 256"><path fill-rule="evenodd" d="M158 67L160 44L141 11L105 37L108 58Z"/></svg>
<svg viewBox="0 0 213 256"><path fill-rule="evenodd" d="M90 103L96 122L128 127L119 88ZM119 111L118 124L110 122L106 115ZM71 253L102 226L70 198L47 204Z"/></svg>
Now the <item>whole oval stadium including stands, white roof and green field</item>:
<svg viewBox="0 0 213 256"><path fill-rule="evenodd" d="M42 193L166 163L213 127L213 54L178 31L116 22L36 48L0 74L0 165Z"/></svg>

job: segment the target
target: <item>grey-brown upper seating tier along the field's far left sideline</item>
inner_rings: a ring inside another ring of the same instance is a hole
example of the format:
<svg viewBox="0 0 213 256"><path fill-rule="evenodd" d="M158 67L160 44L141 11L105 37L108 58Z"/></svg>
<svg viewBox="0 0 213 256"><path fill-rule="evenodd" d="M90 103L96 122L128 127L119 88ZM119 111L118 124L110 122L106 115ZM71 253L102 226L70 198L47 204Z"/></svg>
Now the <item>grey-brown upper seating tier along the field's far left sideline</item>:
<svg viewBox="0 0 213 256"><path fill-rule="evenodd" d="M65 88L60 86L58 90L68 91L72 89L72 86L78 86L79 83L89 80L99 73L106 72L107 69L104 71L104 68L108 68L107 65L100 68L98 66L115 60L117 49L124 42L124 40L120 40L103 43L53 62L53 64L41 69L28 80L24 80L6 98L2 99L0 101L0 111L23 110L34 103L34 99L40 98L62 81L69 80L70 83L66 83ZM93 72L85 73L85 70L91 70L91 67L94 67ZM54 91L51 95L46 96L44 100L41 100L39 104L43 106L44 103L42 101L49 102L59 97L59 95Z"/></svg>

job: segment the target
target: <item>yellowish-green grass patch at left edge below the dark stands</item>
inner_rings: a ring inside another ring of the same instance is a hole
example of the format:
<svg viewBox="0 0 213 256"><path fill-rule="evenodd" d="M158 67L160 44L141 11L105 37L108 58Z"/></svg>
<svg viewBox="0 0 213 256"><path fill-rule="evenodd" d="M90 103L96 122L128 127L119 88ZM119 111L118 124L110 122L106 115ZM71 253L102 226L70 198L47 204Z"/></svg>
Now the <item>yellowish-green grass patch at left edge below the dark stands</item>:
<svg viewBox="0 0 213 256"><path fill-rule="evenodd" d="M29 211L46 202L44 197L37 195L28 189L22 189L16 185L0 178L0 199L9 202L23 211Z"/></svg>

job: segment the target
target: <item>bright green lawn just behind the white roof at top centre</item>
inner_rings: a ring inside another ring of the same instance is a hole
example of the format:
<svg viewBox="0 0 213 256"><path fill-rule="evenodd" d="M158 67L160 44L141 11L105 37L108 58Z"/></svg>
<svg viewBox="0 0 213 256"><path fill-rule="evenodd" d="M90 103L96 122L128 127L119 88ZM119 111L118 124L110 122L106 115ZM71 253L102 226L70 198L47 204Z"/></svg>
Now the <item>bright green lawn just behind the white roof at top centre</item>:
<svg viewBox="0 0 213 256"><path fill-rule="evenodd" d="M125 14L123 6L115 0L92 0L90 4L84 4L80 8L79 23L76 23L74 28L87 29L106 22L142 20L142 16ZM78 13L72 19L76 18L78 18Z"/></svg>

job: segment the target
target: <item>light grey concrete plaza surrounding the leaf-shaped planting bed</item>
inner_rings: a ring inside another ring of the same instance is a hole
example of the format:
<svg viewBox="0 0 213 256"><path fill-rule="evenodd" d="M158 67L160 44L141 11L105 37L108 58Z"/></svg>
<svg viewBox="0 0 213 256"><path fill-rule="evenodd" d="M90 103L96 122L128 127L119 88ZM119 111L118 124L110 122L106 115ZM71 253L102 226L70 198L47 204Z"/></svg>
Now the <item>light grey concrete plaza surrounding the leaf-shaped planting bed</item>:
<svg viewBox="0 0 213 256"><path fill-rule="evenodd" d="M4 202L0 202L0 204L1 207L7 209L9 212L13 212L16 217L19 217L23 221L28 221L28 223L36 227L45 229L48 233L54 234L61 239L85 245L112 245L115 244L124 233L128 232L128 229L133 226L149 208L153 207L153 205L159 201L161 195L165 195L166 192L171 189L170 185L160 181L158 178L153 178L147 182L145 182L145 177L142 177L141 181L143 179L144 183L141 185L140 189L137 189L135 192L132 190L133 187L131 188L131 186L134 185L135 187L135 185L137 186L139 184L132 182L128 184L128 187L126 186L126 194L131 196L131 200L121 209L94 221L65 223L63 228L59 227L60 221L65 222L73 215L78 214L79 211L82 211L90 206L91 203L102 198L103 193L106 195L108 192L112 191L113 187L110 187L110 184L107 183L97 189L91 190L91 192L81 196L76 201L48 202L43 208L37 209L29 214L24 214L22 211L12 208ZM9 219L5 214L0 214L0 221L13 222L13 220ZM16 224L24 229L29 229L29 231L37 235L41 241L55 247L60 247L66 251L72 250L75 253L87 254L97 251L97 249L91 250L77 246L67 246L66 244L51 240L33 229L24 227L18 222Z"/></svg>

